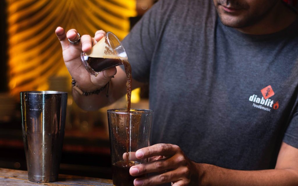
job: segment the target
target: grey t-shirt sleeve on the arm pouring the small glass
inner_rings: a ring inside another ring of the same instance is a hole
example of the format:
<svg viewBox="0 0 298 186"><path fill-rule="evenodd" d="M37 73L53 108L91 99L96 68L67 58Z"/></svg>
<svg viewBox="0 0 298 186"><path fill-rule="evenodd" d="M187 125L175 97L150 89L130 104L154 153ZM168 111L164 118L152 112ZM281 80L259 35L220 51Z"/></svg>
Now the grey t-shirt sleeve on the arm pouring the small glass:
<svg viewBox="0 0 298 186"><path fill-rule="evenodd" d="M157 20L161 11L161 3L158 1L154 4L121 42L131 64L132 77L139 82L149 81L150 63L157 40L157 24L159 24Z"/></svg>

